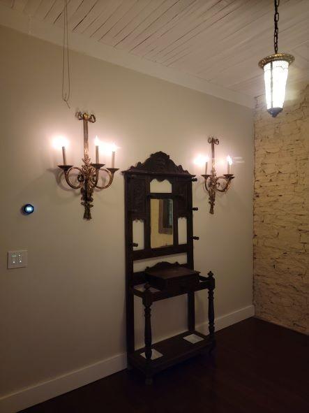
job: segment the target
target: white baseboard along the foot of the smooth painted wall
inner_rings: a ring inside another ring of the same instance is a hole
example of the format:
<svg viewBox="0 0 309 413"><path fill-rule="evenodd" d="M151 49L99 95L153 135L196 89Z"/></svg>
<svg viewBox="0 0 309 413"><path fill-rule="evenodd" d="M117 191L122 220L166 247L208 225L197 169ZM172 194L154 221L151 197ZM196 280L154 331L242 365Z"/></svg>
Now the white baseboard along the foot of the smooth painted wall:
<svg viewBox="0 0 309 413"><path fill-rule="evenodd" d="M216 318L216 331L232 324L238 323L255 314L255 307L241 308L229 314L225 314ZM207 334L207 324L197 326L197 329L202 333ZM74 370L66 375L55 377L35 386L21 389L15 393L10 393L0 398L0 413L15 413L27 407L42 403L45 400L67 393L68 391L78 389L91 382L96 382L98 379L112 375L126 368L126 354L119 354L107 360L99 361L91 365L87 365L79 370Z"/></svg>

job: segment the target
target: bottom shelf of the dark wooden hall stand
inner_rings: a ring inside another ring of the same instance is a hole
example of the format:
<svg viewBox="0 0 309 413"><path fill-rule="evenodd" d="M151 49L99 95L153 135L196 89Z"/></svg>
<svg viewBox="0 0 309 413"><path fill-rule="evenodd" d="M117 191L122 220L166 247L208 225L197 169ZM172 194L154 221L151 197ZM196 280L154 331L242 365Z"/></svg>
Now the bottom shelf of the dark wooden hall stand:
<svg viewBox="0 0 309 413"><path fill-rule="evenodd" d="M202 338L201 341L191 343L184 339L187 335L195 334ZM181 361L185 361L190 357L207 352L214 347L214 340L211 341L209 335L204 335L197 331L185 331L174 337L156 342L151 346L162 356L151 361L147 361L141 354L144 353L144 347L137 349L133 354L128 354L128 362L132 367L142 371L144 375L153 375L156 372L165 370Z"/></svg>

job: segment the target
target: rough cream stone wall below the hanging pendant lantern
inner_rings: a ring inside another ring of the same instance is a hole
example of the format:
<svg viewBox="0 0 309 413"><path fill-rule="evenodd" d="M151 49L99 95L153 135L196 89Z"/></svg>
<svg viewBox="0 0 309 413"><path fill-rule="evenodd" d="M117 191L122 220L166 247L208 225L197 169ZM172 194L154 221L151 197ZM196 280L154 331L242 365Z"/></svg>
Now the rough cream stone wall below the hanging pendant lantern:
<svg viewBox="0 0 309 413"><path fill-rule="evenodd" d="M275 118L264 101L255 110L255 311L309 333L309 85Z"/></svg>

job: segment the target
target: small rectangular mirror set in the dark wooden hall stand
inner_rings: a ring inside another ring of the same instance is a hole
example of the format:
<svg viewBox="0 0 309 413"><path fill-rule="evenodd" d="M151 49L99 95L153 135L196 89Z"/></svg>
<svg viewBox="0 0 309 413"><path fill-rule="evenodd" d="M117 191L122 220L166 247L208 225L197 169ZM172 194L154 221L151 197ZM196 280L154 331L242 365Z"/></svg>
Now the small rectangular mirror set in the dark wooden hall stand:
<svg viewBox="0 0 309 413"><path fill-rule="evenodd" d="M173 245L173 200L151 198L151 248Z"/></svg>

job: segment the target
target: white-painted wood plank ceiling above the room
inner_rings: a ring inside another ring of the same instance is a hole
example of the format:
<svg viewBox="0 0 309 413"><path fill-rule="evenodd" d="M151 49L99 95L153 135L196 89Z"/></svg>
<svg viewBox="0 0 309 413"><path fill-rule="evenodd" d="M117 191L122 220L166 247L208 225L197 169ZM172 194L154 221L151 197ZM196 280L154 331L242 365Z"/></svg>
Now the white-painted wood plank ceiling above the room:
<svg viewBox="0 0 309 413"><path fill-rule="evenodd" d="M63 26L63 0L0 0ZM309 80L309 0L281 0L279 51L289 85ZM257 61L273 52L273 0L70 0L70 31L248 96L264 93Z"/></svg>

